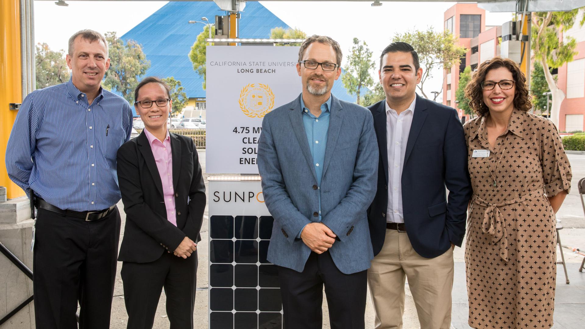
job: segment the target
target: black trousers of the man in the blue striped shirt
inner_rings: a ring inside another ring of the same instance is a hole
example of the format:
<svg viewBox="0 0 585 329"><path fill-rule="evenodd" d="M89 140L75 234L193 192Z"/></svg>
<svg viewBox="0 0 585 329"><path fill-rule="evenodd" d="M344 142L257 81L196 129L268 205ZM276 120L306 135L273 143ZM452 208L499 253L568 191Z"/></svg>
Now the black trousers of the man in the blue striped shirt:
<svg viewBox="0 0 585 329"><path fill-rule="evenodd" d="M98 221L39 209L33 253L35 321L39 329L109 328L120 213Z"/></svg>

